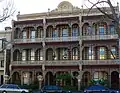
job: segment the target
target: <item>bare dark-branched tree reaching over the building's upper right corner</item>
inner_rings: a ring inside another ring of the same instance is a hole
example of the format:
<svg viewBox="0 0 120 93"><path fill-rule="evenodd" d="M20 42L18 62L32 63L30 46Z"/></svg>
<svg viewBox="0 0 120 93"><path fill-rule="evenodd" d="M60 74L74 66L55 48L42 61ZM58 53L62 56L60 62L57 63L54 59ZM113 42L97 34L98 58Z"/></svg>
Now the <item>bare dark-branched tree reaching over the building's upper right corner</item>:
<svg viewBox="0 0 120 93"><path fill-rule="evenodd" d="M89 12L93 9L93 7L96 7L101 13L103 13L106 17L108 17L109 19L111 19L112 21L114 21L114 25L115 25L115 29L116 32L120 38L120 25L119 25L119 14L116 14L115 8L113 6L113 4L111 3L110 0L98 0L96 3L93 3L91 0L87 0L90 4L92 4L92 7L89 9ZM100 8L98 7L98 5L102 4L102 3L106 3L109 5L112 15L109 15L108 13L106 13L106 11L104 11L104 7ZM88 12L88 13L89 13Z"/></svg>

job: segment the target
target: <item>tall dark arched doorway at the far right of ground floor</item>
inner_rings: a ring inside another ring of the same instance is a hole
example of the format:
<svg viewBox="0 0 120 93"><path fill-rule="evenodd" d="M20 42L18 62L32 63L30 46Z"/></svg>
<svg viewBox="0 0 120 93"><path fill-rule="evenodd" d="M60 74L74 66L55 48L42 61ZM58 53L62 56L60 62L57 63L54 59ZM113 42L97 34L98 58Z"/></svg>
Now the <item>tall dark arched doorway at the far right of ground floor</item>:
<svg viewBox="0 0 120 93"><path fill-rule="evenodd" d="M117 71L111 73L111 88L119 89L119 73Z"/></svg>

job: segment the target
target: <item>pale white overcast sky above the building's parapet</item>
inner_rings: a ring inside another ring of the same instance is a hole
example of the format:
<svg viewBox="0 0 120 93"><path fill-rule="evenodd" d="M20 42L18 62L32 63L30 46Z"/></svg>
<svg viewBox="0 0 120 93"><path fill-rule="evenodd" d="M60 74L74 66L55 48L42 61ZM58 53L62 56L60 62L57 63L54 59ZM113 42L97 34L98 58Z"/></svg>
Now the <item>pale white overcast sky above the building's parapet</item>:
<svg viewBox="0 0 120 93"><path fill-rule="evenodd" d="M1 0L0 0L1 1ZM8 1L8 0L7 0ZM54 10L57 8L58 4L62 1L69 1L73 6L77 6L81 8L83 5L84 8L90 7L90 3L87 0L13 0L14 7L16 12L14 16L9 18L8 20L0 23L0 30L4 30L4 27L11 26L11 20L16 20L16 15L20 11L20 14L30 14L30 13L41 13L47 12L48 8L50 10ZM96 2L97 0L91 0L92 2ZM117 5L117 2L120 0L111 0L112 4ZM5 6L6 4L3 4ZM105 4L102 4L102 6ZM0 9L2 9L0 7Z"/></svg>

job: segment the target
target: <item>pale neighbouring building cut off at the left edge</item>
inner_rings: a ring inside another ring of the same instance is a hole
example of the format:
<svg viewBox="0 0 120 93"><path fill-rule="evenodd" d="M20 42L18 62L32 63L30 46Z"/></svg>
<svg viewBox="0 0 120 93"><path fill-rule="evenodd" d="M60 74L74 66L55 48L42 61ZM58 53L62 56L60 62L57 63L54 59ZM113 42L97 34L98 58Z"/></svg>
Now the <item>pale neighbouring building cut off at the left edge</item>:
<svg viewBox="0 0 120 93"><path fill-rule="evenodd" d="M2 48L5 45L4 41L10 42L11 32L11 27L5 27L5 30L0 31L0 85L5 82L5 74L9 75L10 44L7 44L4 51L2 51Z"/></svg>

